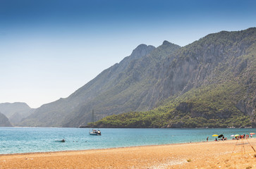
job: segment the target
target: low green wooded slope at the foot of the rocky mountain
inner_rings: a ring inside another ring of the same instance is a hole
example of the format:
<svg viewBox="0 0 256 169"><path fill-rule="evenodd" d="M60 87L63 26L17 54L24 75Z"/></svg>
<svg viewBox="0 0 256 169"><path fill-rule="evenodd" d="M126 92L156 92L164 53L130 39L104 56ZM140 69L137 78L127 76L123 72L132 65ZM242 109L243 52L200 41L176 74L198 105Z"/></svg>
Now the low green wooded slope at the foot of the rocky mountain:
<svg viewBox="0 0 256 169"><path fill-rule="evenodd" d="M97 121L99 127L247 127L248 115L235 103L243 93L238 84L200 87L177 96L152 111L110 115ZM89 123L92 125L92 123Z"/></svg>

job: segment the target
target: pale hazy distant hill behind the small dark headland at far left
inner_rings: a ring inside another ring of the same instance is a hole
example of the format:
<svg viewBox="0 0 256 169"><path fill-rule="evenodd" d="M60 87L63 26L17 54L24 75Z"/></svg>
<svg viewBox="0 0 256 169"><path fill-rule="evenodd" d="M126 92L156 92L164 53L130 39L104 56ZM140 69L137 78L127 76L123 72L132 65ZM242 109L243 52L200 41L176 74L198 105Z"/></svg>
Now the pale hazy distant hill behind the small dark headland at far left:
<svg viewBox="0 0 256 169"><path fill-rule="evenodd" d="M23 118L27 118L28 115L35 111L35 108L30 108L25 103L4 103L0 104L0 111L10 120L13 125L20 123Z"/></svg>

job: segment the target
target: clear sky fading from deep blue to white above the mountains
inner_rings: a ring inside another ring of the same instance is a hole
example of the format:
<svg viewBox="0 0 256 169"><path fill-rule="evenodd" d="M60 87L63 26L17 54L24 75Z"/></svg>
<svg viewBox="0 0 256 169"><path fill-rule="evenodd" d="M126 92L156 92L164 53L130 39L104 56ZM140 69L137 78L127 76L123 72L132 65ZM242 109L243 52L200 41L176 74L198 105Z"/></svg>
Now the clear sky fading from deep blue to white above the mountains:
<svg viewBox="0 0 256 169"><path fill-rule="evenodd" d="M0 0L0 103L65 98L139 44L255 26L254 0Z"/></svg>

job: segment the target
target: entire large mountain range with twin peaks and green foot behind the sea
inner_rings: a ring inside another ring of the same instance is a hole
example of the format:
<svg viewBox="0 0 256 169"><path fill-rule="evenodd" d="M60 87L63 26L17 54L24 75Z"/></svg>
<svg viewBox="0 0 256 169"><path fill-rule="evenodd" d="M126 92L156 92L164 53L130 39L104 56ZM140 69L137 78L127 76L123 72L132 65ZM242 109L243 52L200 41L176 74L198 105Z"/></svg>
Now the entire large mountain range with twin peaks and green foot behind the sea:
<svg viewBox="0 0 256 169"><path fill-rule="evenodd" d="M250 28L207 35L184 47L166 41L157 48L141 44L20 125L78 127L92 121L92 109L103 118L97 122L102 127L255 124L255 35L256 28Z"/></svg>

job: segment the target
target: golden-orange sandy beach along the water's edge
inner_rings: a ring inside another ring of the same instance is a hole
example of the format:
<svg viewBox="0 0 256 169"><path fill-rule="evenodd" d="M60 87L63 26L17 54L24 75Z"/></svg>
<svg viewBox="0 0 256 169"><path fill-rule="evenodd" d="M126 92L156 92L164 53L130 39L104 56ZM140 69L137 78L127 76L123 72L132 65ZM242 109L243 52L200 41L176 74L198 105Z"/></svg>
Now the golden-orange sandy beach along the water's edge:
<svg viewBox="0 0 256 169"><path fill-rule="evenodd" d="M0 168L256 168L256 139L248 141L8 154Z"/></svg>

